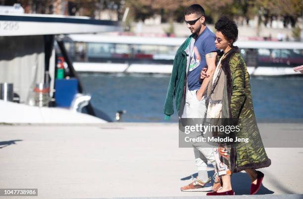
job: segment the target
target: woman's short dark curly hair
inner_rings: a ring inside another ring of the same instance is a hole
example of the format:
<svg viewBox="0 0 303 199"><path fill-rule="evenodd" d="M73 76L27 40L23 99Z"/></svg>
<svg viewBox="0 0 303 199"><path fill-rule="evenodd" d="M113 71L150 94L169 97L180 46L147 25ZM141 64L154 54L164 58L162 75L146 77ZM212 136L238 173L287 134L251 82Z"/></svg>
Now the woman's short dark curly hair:
<svg viewBox="0 0 303 199"><path fill-rule="evenodd" d="M233 40L233 43L238 38L238 27L235 21L230 20L227 16L221 16L215 24L215 29L222 33L226 40Z"/></svg>

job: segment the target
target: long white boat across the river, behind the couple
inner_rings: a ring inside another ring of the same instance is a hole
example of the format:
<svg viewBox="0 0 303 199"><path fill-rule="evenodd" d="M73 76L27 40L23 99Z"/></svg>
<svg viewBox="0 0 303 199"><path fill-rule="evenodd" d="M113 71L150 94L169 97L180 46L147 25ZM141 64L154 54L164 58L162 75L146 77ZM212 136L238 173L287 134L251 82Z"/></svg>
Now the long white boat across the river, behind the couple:
<svg viewBox="0 0 303 199"><path fill-rule="evenodd" d="M176 50L185 39L77 34L65 38L76 71L166 74L171 73ZM246 59L251 75L301 74L293 67L303 64L302 42L240 40L235 45ZM82 59L77 56L77 47L83 50Z"/></svg>

